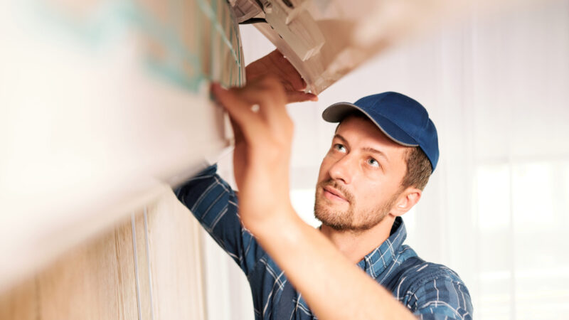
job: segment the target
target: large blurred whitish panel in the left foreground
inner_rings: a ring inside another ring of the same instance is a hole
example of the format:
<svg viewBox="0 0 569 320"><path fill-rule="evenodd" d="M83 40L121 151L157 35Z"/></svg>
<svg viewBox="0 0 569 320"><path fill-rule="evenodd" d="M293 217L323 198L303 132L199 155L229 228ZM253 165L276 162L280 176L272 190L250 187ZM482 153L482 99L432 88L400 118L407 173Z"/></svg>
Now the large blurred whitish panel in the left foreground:
<svg viewBox="0 0 569 320"><path fill-rule="evenodd" d="M241 85L223 0L0 2L0 291L228 146Z"/></svg>

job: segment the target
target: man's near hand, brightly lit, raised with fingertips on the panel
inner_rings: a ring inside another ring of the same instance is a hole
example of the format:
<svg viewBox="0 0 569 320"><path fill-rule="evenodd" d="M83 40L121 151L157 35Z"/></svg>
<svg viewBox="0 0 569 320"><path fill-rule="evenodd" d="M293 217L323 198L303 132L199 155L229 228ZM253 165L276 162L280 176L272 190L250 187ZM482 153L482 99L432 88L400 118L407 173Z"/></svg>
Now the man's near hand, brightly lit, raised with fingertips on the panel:
<svg viewBox="0 0 569 320"><path fill-rule="evenodd" d="M259 78L230 90L212 85L212 91L231 118L241 221L255 234L265 221L288 218L292 210L288 181L293 124L287 95L277 78Z"/></svg>

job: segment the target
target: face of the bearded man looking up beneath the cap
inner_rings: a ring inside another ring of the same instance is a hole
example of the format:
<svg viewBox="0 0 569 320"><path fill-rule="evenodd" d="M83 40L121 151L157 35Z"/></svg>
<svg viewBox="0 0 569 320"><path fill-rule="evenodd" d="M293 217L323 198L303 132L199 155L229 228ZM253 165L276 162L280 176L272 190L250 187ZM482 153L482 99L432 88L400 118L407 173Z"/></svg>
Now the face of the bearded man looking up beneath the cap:
<svg viewBox="0 0 569 320"><path fill-rule="evenodd" d="M402 192L407 150L367 119L344 119L320 165L316 218L336 230L380 223Z"/></svg>

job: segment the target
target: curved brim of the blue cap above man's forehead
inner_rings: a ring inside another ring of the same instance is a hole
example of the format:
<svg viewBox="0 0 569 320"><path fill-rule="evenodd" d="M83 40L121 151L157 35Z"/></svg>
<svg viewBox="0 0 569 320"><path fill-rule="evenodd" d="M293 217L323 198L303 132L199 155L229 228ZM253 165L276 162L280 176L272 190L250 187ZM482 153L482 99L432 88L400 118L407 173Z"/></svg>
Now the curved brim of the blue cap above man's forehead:
<svg viewBox="0 0 569 320"><path fill-rule="evenodd" d="M413 137L409 134L405 133L403 129L391 122L390 119L383 117L381 114L375 114L374 117L371 117L368 112L363 111L357 105L353 105L349 102L338 102L334 103L334 105L330 105L327 107L324 112L322 112L322 118L327 122L341 122L344 117L348 114L353 112L354 110L358 110L359 112L363 113L371 120L376 126L385 134L389 139L401 144L403 146L418 146L419 144Z"/></svg>

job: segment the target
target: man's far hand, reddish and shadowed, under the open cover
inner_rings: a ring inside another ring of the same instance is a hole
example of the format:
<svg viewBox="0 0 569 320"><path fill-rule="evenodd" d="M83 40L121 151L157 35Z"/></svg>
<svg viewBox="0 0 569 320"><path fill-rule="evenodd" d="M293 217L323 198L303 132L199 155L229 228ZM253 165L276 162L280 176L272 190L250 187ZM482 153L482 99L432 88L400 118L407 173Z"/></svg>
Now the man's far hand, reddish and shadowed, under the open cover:
<svg viewBox="0 0 569 320"><path fill-rule="evenodd" d="M287 102L318 101L316 95L304 92L306 82L279 50L274 50L245 67L247 82L254 82L267 75L276 77L285 87Z"/></svg>

